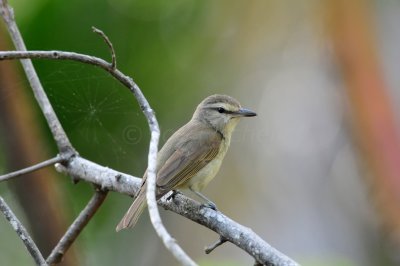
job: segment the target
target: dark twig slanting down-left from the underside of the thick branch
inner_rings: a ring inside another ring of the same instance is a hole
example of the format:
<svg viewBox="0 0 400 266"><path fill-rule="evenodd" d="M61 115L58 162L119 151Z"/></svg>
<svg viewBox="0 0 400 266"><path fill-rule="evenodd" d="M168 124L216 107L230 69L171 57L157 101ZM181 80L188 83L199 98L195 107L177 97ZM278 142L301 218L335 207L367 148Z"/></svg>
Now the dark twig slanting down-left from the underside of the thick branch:
<svg viewBox="0 0 400 266"><path fill-rule="evenodd" d="M95 194L92 196L86 207L81 211L81 213L72 223L72 225L68 228L67 232L65 232L64 236L51 251L49 257L46 260L48 264L51 265L59 263L62 260L65 252L67 252L69 247L79 236L80 232L99 209L101 204L104 202L106 196L107 191L96 190Z"/></svg>

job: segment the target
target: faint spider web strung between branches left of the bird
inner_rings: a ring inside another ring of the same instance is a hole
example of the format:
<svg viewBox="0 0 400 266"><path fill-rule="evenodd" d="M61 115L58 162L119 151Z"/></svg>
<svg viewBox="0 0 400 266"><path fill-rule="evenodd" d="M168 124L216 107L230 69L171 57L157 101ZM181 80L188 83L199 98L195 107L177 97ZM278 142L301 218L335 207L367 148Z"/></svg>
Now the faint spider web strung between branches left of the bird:
<svg viewBox="0 0 400 266"><path fill-rule="evenodd" d="M41 78L72 144L89 159L124 168L146 128L134 97L107 73L62 63Z"/></svg>

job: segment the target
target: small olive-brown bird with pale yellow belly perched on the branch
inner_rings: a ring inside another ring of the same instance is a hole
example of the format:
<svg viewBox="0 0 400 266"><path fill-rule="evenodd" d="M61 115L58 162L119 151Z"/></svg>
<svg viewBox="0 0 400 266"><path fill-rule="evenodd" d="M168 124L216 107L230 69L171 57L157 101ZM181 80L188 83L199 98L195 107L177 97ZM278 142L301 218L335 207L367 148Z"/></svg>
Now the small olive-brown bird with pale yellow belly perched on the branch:
<svg viewBox="0 0 400 266"><path fill-rule="evenodd" d="M156 166L156 198L173 190L190 189L208 207L215 204L200 191L217 174L229 148L232 132L241 117L257 114L242 108L237 100L227 95L211 95L196 108L192 119L178 129L158 152ZM146 207L146 178L116 231L133 227Z"/></svg>

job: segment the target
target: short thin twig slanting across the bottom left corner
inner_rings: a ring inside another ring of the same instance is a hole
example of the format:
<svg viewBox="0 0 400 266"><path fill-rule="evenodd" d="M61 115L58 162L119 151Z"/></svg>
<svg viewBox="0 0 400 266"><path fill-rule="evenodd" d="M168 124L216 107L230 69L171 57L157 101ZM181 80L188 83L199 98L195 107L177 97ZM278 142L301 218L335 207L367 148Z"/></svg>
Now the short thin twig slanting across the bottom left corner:
<svg viewBox="0 0 400 266"><path fill-rule="evenodd" d="M0 196L0 210L3 212L4 216L11 224L12 228L15 232L17 232L19 238L21 238L22 242L24 242L25 247L28 249L32 258L35 260L37 265L47 265L46 261L43 258L42 253L40 253L38 247L35 242L33 242L32 238L29 236L25 227L21 224L15 214L12 212L10 207L4 201L4 199Z"/></svg>

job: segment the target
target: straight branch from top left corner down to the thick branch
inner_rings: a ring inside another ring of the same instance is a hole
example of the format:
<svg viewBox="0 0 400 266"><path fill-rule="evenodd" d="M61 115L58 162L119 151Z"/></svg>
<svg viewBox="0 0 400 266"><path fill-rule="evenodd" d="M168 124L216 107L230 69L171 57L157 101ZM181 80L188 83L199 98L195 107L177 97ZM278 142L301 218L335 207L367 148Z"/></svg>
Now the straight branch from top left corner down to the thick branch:
<svg viewBox="0 0 400 266"><path fill-rule="evenodd" d="M15 48L19 51L26 51L24 40L22 39L21 33L15 23L14 12L8 5L6 0L0 0L0 14L7 25L8 32L10 33L11 39L15 45ZM53 107L44 92L43 86L39 80L39 77L33 67L31 60L21 60L22 67L25 71L26 77L32 87L36 101L38 102L40 109L50 127L53 138L56 141L57 147L60 152L63 153L75 153L72 145L65 134L64 129L58 120Z"/></svg>

